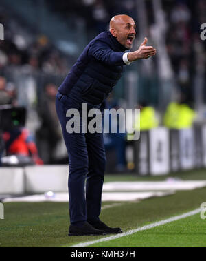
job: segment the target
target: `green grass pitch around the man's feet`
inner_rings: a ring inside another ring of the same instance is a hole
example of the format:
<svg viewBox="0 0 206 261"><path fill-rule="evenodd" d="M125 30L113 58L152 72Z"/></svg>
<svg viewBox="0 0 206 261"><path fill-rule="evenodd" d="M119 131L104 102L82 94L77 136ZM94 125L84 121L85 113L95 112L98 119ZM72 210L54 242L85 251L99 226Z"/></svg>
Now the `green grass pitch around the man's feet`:
<svg viewBox="0 0 206 261"><path fill-rule="evenodd" d="M170 175L172 176L172 175ZM205 180L206 171L173 174L183 180ZM137 178L135 176L106 176L111 180L164 180L166 177ZM165 220L192 211L206 202L206 188L178 191L172 196L151 198L141 202L123 202L102 210L100 218L123 231ZM105 202L104 205L110 202ZM113 202L111 202L113 204ZM0 247L69 247L102 236L68 237L67 203L19 202L5 203L5 219L0 220ZM105 236L104 236L105 237ZM199 214L160 227L139 231L91 247L206 247L206 220Z"/></svg>

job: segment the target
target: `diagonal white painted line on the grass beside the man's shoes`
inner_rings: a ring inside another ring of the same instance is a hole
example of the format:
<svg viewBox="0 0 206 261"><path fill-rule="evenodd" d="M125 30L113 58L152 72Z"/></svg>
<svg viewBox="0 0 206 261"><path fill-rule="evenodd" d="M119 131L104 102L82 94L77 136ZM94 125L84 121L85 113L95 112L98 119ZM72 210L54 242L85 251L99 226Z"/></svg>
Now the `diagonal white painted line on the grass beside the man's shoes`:
<svg viewBox="0 0 206 261"><path fill-rule="evenodd" d="M152 229L153 227L159 227L161 225L165 225L165 224L168 224L170 222L173 222L173 221L176 221L176 220L180 220L182 218L187 218L187 217L190 217L190 216L194 216L196 215L197 213L200 213L201 212L201 209L195 209L194 211L190 211L190 212L187 212L187 213L184 213L180 216L174 216L172 218L168 218L168 219L165 219L165 220L161 220L159 222L155 222L155 223L152 223L150 225L146 225L144 227L137 227L137 229L133 229L133 230L129 230L129 231L126 231L122 234L117 234L115 236L109 236L109 237L106 237L106 238L101 238L101 239L98 239L98 240L93 240L93 241L90 241L90 242L85 242L85 243L80 243L80 244L74 244L73 246L71 247L87 247L91 244L97 244L97 243L100 243L100 242L105 242L105 241L110 241L110 240L114 240L116 238L122 238L123 236L128 236L128 235L132 235L133 233L137 233L139 231L144 231L144 230L147 230L147 229Z"/></svg>

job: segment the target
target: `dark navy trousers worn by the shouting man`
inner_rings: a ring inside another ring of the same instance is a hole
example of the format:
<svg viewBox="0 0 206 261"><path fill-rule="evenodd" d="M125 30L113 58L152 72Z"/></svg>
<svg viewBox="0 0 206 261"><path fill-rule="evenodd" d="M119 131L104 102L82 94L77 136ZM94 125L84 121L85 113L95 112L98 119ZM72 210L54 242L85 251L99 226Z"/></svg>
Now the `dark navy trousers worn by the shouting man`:
<svg viewBox="0 0 206 261"><path fill-rule="evenodd" d="M69 155L69 215L71 224L99 220L106 156L103 133L68 133L68 109L79 109L68 96L58 92L56 112ZM80 129L82 126L80 114ZM89 119L88 119L89 121ZM85 186L86 182L86 186ZM85 191L86 188L86 191Z"/></svg>

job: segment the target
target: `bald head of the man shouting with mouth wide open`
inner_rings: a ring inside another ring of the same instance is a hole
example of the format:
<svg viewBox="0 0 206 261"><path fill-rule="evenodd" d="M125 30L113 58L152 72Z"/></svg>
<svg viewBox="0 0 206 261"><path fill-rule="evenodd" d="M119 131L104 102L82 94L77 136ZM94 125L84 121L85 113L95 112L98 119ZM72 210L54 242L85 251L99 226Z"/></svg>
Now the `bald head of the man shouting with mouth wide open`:
<svg viewBox="0 0 206 261"><path fill-rule="evenodd" d="M109 23L109 31L125 48L132 48L136 34L132 17L126 14L116 15Z"/></svg>

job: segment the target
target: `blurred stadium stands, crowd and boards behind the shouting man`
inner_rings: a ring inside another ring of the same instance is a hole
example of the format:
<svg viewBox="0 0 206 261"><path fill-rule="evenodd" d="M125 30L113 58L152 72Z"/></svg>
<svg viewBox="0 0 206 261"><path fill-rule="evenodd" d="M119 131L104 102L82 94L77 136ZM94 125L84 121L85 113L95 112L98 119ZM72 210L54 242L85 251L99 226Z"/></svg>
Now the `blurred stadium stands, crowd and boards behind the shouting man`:
<svg viewBox="0 0 206 261"><path fill-rule="evenodd" d="M126 67L108 98L109 107L141 109L141 138L105 135L106 172L156 176L206 167L205 0L0 0L1 173L67 165L56 90L115 14L137 22L133 49L147 36L157 56Z"/></svg>

